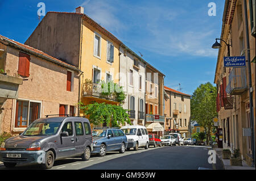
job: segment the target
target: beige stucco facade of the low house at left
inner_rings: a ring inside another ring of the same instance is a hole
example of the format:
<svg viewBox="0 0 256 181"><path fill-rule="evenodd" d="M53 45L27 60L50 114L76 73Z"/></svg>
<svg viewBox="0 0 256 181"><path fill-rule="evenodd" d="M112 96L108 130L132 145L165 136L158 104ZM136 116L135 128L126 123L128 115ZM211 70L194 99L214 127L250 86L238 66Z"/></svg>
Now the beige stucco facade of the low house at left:
<svg viewBox="0 0 256 181"><path fill-rule="evenodd" d="M60 104L65 105L65 113L67 114L69 114L70 107L73 106L75 108L74 113L77 115L80 71L75 66L65 64L39 50L9 40L6 37L5 40L0 40L0 45L5 47L4 70L6 75L23 79L22 85L19 85L18 88L18 98L7 99L2 104L1 132L18 134L31 123L27 120L27 123L22 127L16 125L18 101L26 102L28 108L24 114L27 114L27 118L31 116L32 104L34 103L38 106L37 118L59 114ZM20 52L30 56L28 77L18 74ZM67 71L72 72L71 91L67 91Z"/></svg>

